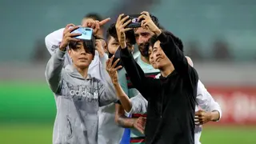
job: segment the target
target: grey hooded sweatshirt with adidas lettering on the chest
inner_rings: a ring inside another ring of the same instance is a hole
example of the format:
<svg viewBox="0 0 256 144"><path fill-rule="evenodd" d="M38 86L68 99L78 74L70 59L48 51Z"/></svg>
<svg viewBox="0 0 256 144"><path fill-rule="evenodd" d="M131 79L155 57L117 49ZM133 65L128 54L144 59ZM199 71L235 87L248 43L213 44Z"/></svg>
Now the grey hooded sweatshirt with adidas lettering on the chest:
<svg viewBox="0 0 256 144"><path fill-rule="evenodd" d="M73 66L64 66L66 52L55 50L46 66L46 80L54 92L57 115L54 144L97 144L98 109L115 102L114 86L106 76L103 85L88 74L83 78ZM106 58L101 58L102 65ZM102 66L105 70L106 66Z"/></svg>

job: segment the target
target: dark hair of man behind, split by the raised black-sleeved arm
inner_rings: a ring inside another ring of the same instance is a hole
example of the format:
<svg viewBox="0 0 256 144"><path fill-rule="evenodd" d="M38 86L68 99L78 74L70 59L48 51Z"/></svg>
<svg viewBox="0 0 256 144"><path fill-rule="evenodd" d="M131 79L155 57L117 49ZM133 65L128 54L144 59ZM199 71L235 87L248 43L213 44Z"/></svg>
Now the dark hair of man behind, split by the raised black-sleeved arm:
<svg viewBox="0 0 256 144"><path fill-rule="evenodd" d="M118 39L117 30L115 29L115 23L112 23L110 27L106 30L106 38L107 41L110 40L110 37L113 37L114 39ZM131 44L136 43L136 39L134 36L134 30L128 30L126 31L126 38L129 40Z"/></svg>

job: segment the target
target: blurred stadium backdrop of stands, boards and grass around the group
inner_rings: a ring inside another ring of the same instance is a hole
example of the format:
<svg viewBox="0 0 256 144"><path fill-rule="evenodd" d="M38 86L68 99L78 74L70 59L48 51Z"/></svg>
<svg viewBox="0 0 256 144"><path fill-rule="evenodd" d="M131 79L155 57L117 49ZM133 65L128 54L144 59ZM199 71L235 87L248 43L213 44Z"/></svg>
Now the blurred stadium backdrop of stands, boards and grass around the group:
<svg viewBox="0 0 256 144"><path fill-rule="evenodd" d="M51 143L56 110L44 78L46 34L78 25L90 12L114 19L142 10L182 38L200 79L222 106L222 120L204 126L202 143L255 144L254 0L1 0L0 144Z"/></svg>

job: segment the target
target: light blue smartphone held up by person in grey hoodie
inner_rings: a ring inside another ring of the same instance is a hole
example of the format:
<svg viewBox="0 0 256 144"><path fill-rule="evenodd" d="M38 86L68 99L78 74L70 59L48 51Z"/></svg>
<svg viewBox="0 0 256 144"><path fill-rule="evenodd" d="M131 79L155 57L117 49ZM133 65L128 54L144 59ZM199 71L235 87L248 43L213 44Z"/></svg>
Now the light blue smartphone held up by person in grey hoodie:
<svg viewBox="0 0 256 144"><path fill-rule="evenodd" d="M81 34L81 35L76 36L74 38L90 40L93 36L93 29L91 29L89 27L79 27L77 30L73 30L71 32L71 34L73 34L73 33Z"/></svg>

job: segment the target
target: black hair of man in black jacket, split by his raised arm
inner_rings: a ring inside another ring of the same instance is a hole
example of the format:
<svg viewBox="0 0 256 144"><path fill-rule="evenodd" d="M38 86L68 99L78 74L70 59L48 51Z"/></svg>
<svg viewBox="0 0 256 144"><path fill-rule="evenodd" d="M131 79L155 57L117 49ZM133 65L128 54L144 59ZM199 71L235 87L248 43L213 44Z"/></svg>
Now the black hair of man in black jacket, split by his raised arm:
<svg viewBox="0 0 256 144"><path fill-rule="evenodd" d="M166 34L166 36L170 36L171 38L173 38L174 43L176 46L178 46L179 50L182 50L183 52L183 42L180 38L176 37L174 34L170 33L167 30L163 30L162 31L163 34ZM154 35L152 38L150 38L150 46L154 46L154 43L158 41L158 36Z"/></svg>

